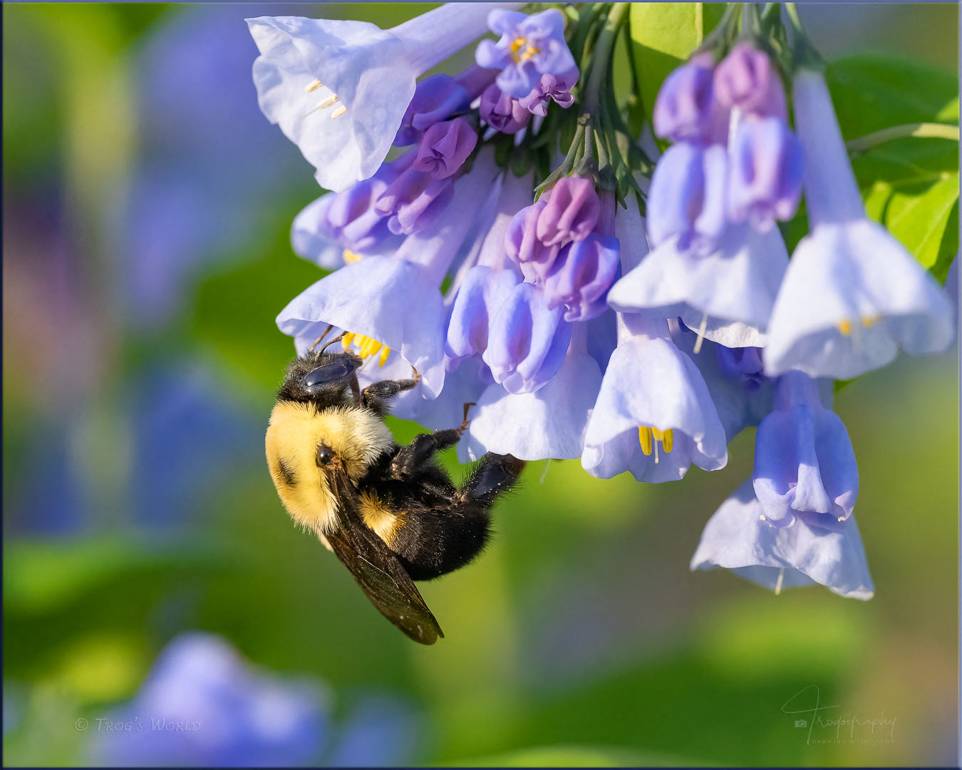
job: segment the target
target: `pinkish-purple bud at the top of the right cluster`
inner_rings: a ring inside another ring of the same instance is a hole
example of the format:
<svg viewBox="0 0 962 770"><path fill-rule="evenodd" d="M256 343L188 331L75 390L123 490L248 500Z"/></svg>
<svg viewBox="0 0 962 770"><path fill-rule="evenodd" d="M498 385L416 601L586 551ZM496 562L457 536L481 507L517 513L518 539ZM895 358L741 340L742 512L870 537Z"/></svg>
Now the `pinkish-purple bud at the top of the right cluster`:
<svg viewBox="0 0 962 770"><path fill-rule="evenodd" d="M785 88L769 55L741 42L715 68L715 98L723 107L788 120Z"/></svg>

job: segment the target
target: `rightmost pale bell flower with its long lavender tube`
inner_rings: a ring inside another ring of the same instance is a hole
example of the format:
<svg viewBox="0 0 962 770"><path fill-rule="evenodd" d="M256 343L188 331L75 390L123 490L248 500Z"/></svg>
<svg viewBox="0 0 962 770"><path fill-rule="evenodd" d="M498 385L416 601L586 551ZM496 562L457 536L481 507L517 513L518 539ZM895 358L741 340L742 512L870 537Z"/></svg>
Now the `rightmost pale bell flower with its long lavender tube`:
<svg viewBox="0 0 962 770"><path fill-rule="evenodd" d="M810 233L798 244L772 310L765 368L855 377L884 366L899 347L949 347L951 302L884 227L865 214L822 75L795 78L798 138L808 159Z"/></svg>

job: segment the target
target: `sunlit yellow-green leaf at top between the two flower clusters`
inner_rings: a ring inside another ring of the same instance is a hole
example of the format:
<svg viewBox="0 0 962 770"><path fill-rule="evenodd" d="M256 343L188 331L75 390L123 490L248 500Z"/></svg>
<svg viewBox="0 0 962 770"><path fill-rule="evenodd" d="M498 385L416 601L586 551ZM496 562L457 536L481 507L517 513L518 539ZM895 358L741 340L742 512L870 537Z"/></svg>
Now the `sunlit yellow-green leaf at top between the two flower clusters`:
<svg viewBox="0 0 962 770"><path fill-rule="evenodd" d="M649 120L662 82L718 24L724 9L724 3L631 4L632 59Z"/></svg>

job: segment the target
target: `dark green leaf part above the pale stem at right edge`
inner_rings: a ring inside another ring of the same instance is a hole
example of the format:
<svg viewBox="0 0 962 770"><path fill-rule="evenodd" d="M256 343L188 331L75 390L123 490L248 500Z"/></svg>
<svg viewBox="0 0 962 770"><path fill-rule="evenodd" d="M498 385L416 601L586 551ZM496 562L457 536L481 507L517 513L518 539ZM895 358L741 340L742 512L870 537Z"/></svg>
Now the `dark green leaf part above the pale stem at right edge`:
<svg viewBox="0 0 962 770"><path fill-rule="evenodd" d="M959 120L958 78L925 64L859 54L825 70L846 140L904 123Z"/></svg>

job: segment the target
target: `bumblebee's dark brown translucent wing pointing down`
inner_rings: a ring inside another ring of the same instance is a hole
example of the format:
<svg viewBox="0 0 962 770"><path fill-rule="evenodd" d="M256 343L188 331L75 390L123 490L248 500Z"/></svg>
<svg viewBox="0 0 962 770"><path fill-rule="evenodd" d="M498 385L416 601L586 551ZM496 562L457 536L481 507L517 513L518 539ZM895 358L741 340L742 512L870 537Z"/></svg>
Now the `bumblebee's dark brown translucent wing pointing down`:
<svg viewBox="0 0 962 770"><path fill-rule="evenodd" d="M384 541L365 525L357 493L343 470L332 468L326 473L341 520L341 526L327 534L331 549L384 617L416 642L434 644L444 634L414 581Z"/></svg>

